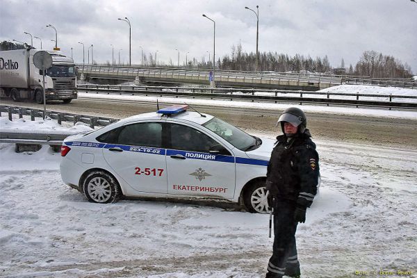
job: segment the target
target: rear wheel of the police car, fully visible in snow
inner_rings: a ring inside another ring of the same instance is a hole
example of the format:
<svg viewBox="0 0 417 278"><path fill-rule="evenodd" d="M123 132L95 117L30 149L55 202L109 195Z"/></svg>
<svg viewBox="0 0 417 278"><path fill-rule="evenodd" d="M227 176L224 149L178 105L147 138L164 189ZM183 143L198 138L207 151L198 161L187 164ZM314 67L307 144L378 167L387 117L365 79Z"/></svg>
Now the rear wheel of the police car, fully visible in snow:
<svg viewBox="0 0 417 278"><path fill-rule="evenodd" d="M94 203L115 203L120 199L120 190L117 180L107 172L94 171L84 179L83 189L88 201Z"/></svg>

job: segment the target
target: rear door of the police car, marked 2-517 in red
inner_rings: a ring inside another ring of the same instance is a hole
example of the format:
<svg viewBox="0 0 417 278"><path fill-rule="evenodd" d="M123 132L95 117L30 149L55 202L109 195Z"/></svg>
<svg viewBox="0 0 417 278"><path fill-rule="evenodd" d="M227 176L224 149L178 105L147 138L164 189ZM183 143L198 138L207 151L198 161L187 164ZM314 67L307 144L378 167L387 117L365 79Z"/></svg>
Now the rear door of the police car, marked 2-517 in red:
<svg viewBox="0 0 417 278"><path fill-rule="evenodd" d="M140 192L167 193L163 122L140 122L122 126L116 144L104 146L108 165Z"/></svg>

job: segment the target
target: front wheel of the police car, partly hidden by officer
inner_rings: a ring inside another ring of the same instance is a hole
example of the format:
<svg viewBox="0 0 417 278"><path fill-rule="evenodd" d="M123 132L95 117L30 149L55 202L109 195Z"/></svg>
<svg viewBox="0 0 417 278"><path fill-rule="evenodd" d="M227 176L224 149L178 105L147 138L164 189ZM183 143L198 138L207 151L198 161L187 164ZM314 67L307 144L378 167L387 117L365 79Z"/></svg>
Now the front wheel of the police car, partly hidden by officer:
<svg viewBox="0 0 417 278"><path fill-rule="evenodd" d="M245 190L243 204L250 213L269 213L265 181L258 181Z"/></svg>

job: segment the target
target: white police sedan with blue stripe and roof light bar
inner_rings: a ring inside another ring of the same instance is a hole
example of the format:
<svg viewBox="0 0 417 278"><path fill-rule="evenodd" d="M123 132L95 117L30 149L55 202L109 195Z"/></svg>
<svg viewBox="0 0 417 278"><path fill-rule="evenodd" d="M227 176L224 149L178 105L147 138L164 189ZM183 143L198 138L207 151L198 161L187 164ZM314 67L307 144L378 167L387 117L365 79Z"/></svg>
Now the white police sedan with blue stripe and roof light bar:
<svg viewBox="0 0 417 278"><path fill-rule="evenodd" d="M187 109L169 106L66 138L63 181L90 202L221 198L253 213L268 212L264 186L274 141Z"/></svg>

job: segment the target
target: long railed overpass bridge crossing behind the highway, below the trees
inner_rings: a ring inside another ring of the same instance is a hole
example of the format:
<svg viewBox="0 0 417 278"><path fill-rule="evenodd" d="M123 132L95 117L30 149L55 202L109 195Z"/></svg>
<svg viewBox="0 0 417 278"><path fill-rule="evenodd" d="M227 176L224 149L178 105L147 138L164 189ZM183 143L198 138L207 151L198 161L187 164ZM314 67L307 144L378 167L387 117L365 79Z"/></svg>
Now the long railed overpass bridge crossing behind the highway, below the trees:
<svg viewBox="0 0 417 278"><path fill-rule="evenodd" d="M111 65L77 65L86 81L97 83L167 83L210 85L212 70L158 67L125 67ZM215 85L233 88L265 88L316 91L344 83L417 88L409 79L371 79L368 76L300 74L288 72L238 72L216 70Z"/></svg>

